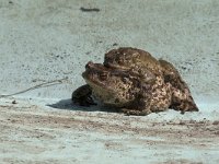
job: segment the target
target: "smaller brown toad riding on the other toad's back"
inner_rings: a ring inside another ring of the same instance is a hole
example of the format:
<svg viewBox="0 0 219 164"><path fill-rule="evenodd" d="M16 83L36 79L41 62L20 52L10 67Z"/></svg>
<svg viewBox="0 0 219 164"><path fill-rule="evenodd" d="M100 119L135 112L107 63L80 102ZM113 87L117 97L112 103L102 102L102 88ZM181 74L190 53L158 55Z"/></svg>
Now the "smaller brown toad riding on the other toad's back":
<svg viewBox="0 0 219 164"><path fill-rule="evenodd" d="M145 77L143 70L149 70L155 74L161 86L159 87L159 84L153 86L152 96L159 96L163 85L166 85L166 87L171 87L172 92L170 108L182 113L198 110L187 84L174 66L165 60L157 60L149 52L141 49L123 47L105 54L104 66L138 72L141 77Z"/></svg>

